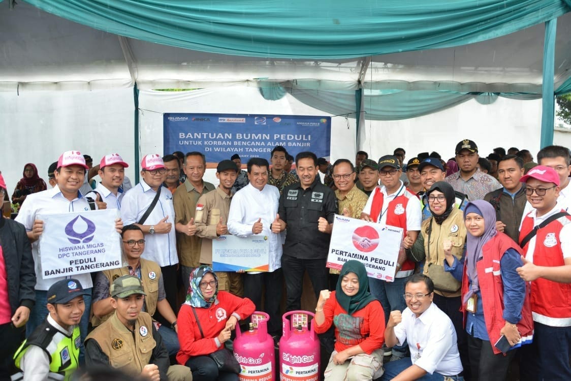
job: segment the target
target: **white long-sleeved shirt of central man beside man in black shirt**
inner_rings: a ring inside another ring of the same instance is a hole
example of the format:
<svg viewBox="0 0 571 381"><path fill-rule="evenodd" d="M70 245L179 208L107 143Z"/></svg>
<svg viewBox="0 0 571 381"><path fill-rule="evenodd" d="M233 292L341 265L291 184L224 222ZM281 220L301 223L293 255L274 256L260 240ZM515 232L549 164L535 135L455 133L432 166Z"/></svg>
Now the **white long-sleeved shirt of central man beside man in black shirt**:
<svg viewBox="0 0 571 381"><path fill-rule="evenodd" d="M228 212L228 232L239 237L254 235L252 226L259 218L262 219L260 234L267 235L270 239L270 272L282 267L282 236L270 230L270 225L278 214L279 199L280 191L275 186L267 184L259 191L248 183L232 196Z"/></svg>

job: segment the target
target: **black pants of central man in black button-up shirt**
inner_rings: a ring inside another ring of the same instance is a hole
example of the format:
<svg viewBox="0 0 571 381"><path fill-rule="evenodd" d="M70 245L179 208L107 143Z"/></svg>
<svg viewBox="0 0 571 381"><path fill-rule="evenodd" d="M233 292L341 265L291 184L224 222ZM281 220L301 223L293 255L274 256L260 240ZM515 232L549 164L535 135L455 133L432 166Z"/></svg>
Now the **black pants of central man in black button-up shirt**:
<svg viewBox="0 0 571 381"><path fill-rule="evenodd" d="M303 274L307 270L309 279L319 298L321 290L329 289L327 259L300 259L290 255L282 256L282 268L286 279L286 311L301 310L301 292L303 292Z"/></svg>

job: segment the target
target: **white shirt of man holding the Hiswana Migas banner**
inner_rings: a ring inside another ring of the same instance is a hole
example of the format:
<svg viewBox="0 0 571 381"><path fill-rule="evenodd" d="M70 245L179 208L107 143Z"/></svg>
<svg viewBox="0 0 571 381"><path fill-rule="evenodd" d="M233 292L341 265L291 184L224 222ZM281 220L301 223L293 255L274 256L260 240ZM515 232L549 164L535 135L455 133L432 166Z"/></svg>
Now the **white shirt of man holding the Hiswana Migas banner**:
<svg viewBox="0 0 571 381"><path fill-rule="evenodd" d="M66 199L59 187L56 185L52 189L30 194L26 197L26 202L22 204L22 208L15 218L16 222L23 224L26 231L31 231L34 226L34 220L37 219L38 214L57 214L66 212L80 212L91 210L89 203L83 197L81 192L78 192L78 197L73 200ZM36 290L46 290L52 284L62 279L75 278L81 282L83 288L93 287L90 274L78 274L72 276L58 276L57 278L43 279L42 278L42 260L38 251L39 240L32 243L32 255L34 256L34 267L36 273Z"/></svg>

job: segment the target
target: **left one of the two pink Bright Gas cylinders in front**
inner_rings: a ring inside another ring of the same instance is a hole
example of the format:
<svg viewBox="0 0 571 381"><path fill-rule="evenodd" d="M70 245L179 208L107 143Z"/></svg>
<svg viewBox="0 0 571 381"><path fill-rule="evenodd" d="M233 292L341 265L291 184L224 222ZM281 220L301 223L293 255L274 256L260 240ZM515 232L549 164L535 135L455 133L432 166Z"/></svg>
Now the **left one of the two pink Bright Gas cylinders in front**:
<svg viewBox="0 0 571 381"><path fill-rule="evenodd" d="M274 380L276 366L274 339L268 335L266 312L254 312L251 316L250 330L240 332L236 326L234 356L240 363L240 381Z"/></svg>

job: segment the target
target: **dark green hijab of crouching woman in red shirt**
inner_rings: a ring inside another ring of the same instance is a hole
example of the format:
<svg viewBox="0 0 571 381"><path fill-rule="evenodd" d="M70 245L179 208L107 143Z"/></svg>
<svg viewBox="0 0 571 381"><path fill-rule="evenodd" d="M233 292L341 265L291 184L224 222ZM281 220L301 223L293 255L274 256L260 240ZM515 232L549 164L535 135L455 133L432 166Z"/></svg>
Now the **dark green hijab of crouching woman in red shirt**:
<svg viewBox="0 0 571 381"><path fill-rule="evenodd" d="M343 292L343 288L341 288L341 280L343 280L343 276L349 272L353 272L353 274L359 278L359 291L353 296L346 295L345 292ZM367 270L363 263L352 259L343 264L341 273L339 274L339 280L337 280L337 287L335 288L335 299L337 299L339 305L343 307L349 315L361 310L367 306L367 304L375 300L375 297L369 292L369 278L367 277Z"/></svg>

